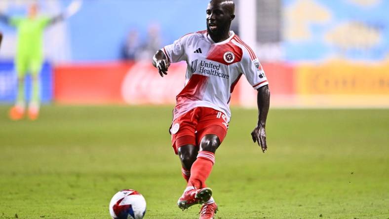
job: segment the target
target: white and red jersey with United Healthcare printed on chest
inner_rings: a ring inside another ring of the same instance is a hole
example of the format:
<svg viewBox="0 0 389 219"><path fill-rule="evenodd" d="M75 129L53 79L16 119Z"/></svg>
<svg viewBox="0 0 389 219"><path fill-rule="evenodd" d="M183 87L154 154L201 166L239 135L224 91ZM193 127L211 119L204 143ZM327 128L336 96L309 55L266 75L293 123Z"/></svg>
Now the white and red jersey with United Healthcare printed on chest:
<svg viewBox="0 0 389 219"><path fill-rule="evenodd" d="M231 93L242 74L254 89L269 84L253 50L233 31L230 35L215 43L207 31L199 31L163 47L169 62L188 64L185 87L177 95L173 120L196 107L209 107L222 111L230 121Z"/></svg>

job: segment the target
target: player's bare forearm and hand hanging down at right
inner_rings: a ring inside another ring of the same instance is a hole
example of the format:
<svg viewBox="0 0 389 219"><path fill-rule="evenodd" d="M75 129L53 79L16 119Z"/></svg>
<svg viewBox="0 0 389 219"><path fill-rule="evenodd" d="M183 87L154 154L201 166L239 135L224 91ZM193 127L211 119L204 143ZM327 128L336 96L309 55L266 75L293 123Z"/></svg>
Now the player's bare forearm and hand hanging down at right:
<svg viewBox="0 0 389 219"><path fill-rule="evenodd" d="M269 106L270 106L270 91L269 85L262 86L257 89L257 105L258 105L258 123L254 130L251 132L251 137L254 143L257 142L262 148L262 151L268 149L266 143L266 119L268 117Z"/></svg>

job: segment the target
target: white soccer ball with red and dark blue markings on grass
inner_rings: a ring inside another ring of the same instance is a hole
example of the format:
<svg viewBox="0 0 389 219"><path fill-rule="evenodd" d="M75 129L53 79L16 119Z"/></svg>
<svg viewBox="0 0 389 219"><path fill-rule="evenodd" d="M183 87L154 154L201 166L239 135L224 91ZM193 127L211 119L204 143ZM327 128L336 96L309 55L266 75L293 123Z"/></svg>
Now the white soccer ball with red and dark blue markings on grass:
<svg viewBox="0 0 389 219"><path fill-rule="evenodd" d="M146 213L146 200L132 189L118 191L110 202L113 219L143 219Z"/></svg>

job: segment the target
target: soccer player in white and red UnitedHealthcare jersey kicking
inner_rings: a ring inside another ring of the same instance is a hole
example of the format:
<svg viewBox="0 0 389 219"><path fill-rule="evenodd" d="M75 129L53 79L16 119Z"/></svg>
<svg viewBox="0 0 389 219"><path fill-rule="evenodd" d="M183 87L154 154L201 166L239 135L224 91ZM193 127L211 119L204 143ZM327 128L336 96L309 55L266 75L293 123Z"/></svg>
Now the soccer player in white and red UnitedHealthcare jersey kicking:
<svg viewBox="0 0 389 219"><path fill-rule="evenodd" d="M158 50L153 65L163 77L170 63L186 61L186 83L177 95L170 128L172 146L182 164L187 187L178 207L202 204L200 219L213 219L217 205L205 181L215 163L230 121L229 102L242 74L258 90L258 123L252 140L267 150L265 124L269 111L268 80L253 50L233 31L232 0L211 0L206 9L207 30L187 34Z"/></svg>

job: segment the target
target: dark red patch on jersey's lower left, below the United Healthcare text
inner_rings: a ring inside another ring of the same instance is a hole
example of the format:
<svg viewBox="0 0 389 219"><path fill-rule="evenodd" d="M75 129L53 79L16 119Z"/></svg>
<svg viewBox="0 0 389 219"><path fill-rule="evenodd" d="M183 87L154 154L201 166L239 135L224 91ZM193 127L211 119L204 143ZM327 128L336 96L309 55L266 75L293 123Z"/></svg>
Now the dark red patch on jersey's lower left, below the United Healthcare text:
<svg viewBox="0 0 389 219"><path fill-rule="evenodd" d="M209 77L194 74L191 79L189 79L187 85L182 89L182 91L177 95L177 107L180 104L183 104L187 101L199 101L202 100L205 88L208 84Z"/></svg>

